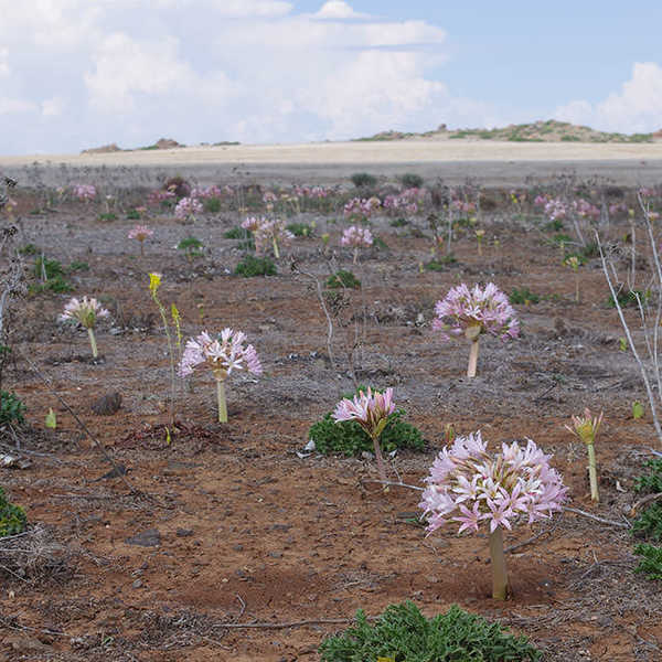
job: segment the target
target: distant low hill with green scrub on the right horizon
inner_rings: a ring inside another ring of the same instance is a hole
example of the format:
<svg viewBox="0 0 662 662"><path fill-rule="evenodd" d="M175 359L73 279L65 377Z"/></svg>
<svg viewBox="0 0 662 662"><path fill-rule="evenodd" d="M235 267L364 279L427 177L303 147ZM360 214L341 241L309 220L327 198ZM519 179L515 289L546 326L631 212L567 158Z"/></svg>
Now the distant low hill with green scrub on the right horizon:
<svg viewBox="0 0 662 662"><path fill-rule="evenodd" d="M407 134L403 131L382 131L356 141L388 140L494 140L506 142L655 142L662 140L662 129L654 134L609 134L590 127L581 127L567 121L548 119L533 124L509 125L496 129L453 129L440 125L434 131Z"/></svg>

